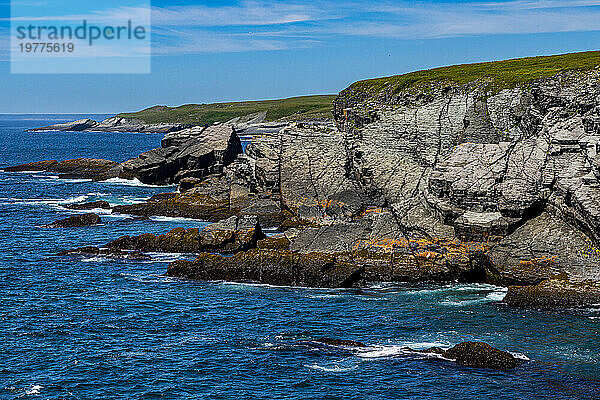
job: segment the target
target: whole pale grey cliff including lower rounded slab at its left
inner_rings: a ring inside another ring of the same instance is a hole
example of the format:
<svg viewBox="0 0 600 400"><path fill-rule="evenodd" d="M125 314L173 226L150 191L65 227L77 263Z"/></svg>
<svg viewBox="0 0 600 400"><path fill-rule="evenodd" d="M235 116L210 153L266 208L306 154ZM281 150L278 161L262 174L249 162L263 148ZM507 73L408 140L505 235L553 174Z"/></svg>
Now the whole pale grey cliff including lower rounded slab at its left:
<svg viewBox="0 0 600 400"><path fill-rule="evenodd" d="M306 230L296 251L475 242L503 282L600 279L599 82L592 69L507 88L350 87L338 131L292 126L248 156L283 208L333 227Z"/></svg>

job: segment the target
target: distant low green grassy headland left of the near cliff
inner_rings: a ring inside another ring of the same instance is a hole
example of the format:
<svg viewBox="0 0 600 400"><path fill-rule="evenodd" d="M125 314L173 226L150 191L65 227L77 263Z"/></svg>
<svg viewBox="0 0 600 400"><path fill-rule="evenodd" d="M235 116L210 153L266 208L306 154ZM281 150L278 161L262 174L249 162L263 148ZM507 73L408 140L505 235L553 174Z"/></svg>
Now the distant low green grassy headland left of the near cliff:
<svg viewBox="0 0 600 400"><path fill-rule="evenodd" d="M207 125L236 117L265 112L267 121L279 119L332 118L335 96L303 96L281 100L245 101L235 103L188 104L181 107L156 106L119 117L136 118L148 124L182 123Z"/></svg>

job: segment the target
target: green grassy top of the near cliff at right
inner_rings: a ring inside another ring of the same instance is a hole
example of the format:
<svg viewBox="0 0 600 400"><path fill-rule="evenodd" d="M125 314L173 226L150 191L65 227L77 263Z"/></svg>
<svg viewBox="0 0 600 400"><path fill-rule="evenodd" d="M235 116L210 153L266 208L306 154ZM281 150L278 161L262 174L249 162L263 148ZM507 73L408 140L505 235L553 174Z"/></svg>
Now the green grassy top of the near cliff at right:
<svg viewBox="0 0 600 400"><path fill-rule="evenodd" d="M352 84L349 89L375 94L383 90L399 93L411 88L424 88L432 83L444 82L464 85L489 82L493 89L501 90L548 78L564 71L587 71L600 65L600 51L571 53L557 56L518 58L506 61L453 65L386 78L369 79Z"/></svg>

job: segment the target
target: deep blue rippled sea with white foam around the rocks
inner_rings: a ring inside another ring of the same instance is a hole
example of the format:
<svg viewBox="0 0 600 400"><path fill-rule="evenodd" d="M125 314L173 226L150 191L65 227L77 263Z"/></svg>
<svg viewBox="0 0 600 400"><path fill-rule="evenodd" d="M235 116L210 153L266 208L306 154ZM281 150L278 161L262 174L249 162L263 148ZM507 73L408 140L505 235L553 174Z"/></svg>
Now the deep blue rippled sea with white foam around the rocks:
<svg viewBox="0 0 600 400"><path fill-rule="evenodd" d="M0 166L122 161L162 136L25 132L82 117L0 115ZM176 255L55 254L201 221L105 214L101 226L40 228L73 215L67 203L126 204L174 189L0 173L0 399L600 398L597 310L510 309L499 304L505 289L489 285L324 290L177 280L163 275ZM368 347L306 344L322 336ZM465 340L529 361L498 372L403 350Z"/></svg>

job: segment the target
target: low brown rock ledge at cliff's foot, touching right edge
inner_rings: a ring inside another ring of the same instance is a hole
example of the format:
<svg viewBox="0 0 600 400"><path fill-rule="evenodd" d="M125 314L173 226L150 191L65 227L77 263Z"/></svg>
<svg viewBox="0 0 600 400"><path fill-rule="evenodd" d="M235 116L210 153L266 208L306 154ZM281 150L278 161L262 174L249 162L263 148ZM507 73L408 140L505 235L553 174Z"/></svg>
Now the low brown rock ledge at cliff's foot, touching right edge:
<svg viewBox="0 0 600 400"><path fill-rule="evenodd" d="M548 279L535 286L510 286L503 302L513 307L556 309L600 305L600 283Z"/></svg>

